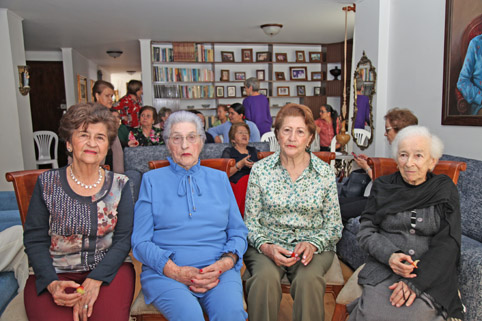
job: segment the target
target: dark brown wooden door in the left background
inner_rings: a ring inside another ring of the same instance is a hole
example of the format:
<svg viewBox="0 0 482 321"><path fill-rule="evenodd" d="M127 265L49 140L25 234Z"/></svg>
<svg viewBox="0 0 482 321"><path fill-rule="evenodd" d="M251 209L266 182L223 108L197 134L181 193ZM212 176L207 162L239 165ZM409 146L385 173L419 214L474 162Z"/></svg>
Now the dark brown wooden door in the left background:
<svg viewBox="0 0 482 321"><path fill-rule="evenodd" d="M58 135L65 104L64 68L61 61L27 61L30 67L30 110L33 130L50 130ZM65 144L59 142L59 166L67 164Z"/></svg>

